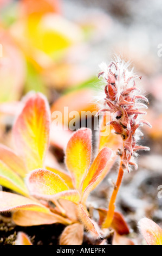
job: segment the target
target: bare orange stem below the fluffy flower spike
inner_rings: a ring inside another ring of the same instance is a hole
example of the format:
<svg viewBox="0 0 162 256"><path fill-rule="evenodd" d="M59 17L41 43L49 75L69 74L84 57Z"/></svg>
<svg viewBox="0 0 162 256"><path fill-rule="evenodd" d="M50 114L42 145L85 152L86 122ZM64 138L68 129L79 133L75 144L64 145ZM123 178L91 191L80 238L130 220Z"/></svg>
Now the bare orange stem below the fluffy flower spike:
<svg viewBox="0 0 162 256"><path fill-rule="evenodd" d="M116 196L118 194L118 191L119 191L119 188L121 185L123 174L124 174L124 170L122 168L122 161L121 161L120 167L119 167L118 179L116 180L116 184L115 184L115 187L114 187L114 190L112 193L112 197L109 201L106 220L105 220L105 222L103 222L102 228L109 228L109 226L112 224L113 217L114 217L114 211L115 211L115 200L116 200Z"/></svg>

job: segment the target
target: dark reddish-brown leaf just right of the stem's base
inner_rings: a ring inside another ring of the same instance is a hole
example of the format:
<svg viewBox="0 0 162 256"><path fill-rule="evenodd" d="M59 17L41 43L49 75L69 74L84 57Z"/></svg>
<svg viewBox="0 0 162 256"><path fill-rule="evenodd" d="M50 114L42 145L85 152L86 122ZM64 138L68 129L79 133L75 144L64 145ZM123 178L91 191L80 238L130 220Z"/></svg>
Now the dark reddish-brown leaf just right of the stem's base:
<svg viewBox="0 0 162 256"><path fill-rule="evenodd" d="M122 214L120 214L120 212L114 212L114 217L113 217L111 227L113 229L115 229L115 231L119 235L128 235L129 234L128 225L124 220L124 216L122 216Z"/></svg>

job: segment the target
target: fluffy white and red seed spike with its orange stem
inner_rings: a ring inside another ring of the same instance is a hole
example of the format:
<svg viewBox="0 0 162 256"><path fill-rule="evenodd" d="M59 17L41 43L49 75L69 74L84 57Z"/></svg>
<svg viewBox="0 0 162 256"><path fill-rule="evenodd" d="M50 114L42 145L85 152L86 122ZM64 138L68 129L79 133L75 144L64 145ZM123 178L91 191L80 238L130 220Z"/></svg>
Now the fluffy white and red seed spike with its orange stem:
<svg viewBox="0 0 162 256"><path fill-rule="evenodd" d="M110 113L111 120L107 125L112 125L115 133L120 135L123 141L123 146L118 151L121 159L118 179L109 201L106 220L102 225L103 228L108 228L113 220L115 199L121 185L124 169L129 172L129 166L132 165L137 169L137 164L132 160L133 156L137 155L138 150L150 150L148 147L137 144L141 135L138 128L143 124L150 127L151 125L147 121L139 119L139 115L146 114L146 112L140 111L140 108L147 108L148 105L147 98L139 94L140 89L135 86L135 78L141 79L141 77L134 75L133 70L129 71L128 64L121 60L111 62L108 66L102 63L100 68L102 71L99 73L99 77L102 75L105 78L106 86L104 100L102 99L103 108L98 114Z"/></svg>

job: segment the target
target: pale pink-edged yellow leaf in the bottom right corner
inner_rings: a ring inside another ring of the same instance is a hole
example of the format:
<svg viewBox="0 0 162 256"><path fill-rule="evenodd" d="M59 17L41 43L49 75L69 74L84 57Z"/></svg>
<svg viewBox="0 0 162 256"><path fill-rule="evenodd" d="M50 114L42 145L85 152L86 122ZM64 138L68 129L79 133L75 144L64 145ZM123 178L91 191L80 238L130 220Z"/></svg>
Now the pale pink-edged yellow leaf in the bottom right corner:
<svg viewBox="0 0 162 256"><path fill-rule="evenodd" d="M159 225L148 218L142 218L138 224L148 245L162 245L162 229Z"/></svg>

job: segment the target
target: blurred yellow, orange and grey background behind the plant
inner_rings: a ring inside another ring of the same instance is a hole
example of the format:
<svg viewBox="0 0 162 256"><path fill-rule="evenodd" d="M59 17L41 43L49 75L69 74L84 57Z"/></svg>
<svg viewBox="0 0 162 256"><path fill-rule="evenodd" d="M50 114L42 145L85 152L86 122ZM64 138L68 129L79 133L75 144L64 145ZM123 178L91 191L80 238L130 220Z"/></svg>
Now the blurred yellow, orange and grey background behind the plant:
<svg viewBox="0 0 162 256"><path fill-rule="evenodd" d="M125 175L118 208L127 212L134 231L144 216L162 223L157 196L162 185L161 1L0 0L0 15L0 142L11 144L11 125L30 90L48 97L51 112L63 113L64 106L96 109L98 65L120 56L142 76L138 86L150 101L145 119L153 127L144 127L141 143L151 151L140 154L137 172ZM69 136L70 131L51 136L57 161ZM112 179L115 175L114 167ZM94 192L100 204L108 193L104 182Z"/></svg>

